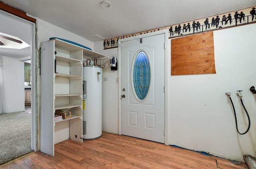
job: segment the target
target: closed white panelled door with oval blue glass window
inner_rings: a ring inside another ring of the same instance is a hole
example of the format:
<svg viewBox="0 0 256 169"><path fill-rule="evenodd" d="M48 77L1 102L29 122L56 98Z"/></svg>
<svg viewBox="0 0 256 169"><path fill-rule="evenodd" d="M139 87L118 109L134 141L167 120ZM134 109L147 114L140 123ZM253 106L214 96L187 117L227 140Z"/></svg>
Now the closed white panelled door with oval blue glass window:
<svg viewBox="0 0 256 169"><path fill-rule="evenodd" d="M165 34L121 42L122 135L164 143Z"/></svg>

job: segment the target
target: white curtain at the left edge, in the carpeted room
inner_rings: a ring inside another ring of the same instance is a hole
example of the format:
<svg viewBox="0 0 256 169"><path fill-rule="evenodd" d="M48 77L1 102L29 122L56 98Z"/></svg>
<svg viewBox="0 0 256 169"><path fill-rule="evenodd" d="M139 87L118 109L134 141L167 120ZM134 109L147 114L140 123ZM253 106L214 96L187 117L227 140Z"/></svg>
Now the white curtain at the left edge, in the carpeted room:
<svg viewBox="0 0 256 169"><path fill-rule="evenodd" d="M3 69L3 58L0 56L0 114L6 113Z"/></svg>

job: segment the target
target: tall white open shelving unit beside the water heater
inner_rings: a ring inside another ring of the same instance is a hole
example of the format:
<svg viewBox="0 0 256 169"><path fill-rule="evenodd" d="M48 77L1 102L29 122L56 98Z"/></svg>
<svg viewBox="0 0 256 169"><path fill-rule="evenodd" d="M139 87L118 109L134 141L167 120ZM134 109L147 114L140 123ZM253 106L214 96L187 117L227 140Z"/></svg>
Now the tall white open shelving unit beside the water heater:
<svg viewBox="0 0 256 169"><path fill-rule="evenodd" d="M104 57L58 39L41 43L40 151L46 154L54 156L54 145L67 139L83 141L82 68L85 56ZM72 117L54 121L57 109L70 111Z"/></svg>

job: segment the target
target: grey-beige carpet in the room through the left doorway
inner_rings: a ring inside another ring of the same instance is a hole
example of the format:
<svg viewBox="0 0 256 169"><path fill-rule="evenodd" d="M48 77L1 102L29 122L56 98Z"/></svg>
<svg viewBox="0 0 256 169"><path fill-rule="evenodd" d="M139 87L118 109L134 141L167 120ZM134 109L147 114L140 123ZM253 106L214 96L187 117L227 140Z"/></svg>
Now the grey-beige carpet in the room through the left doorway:
<svg viewBox="0 0 256 169"><path fill-rule="evenodd" d="M31 114L0 114L0 165L32 151Z"/></svg>

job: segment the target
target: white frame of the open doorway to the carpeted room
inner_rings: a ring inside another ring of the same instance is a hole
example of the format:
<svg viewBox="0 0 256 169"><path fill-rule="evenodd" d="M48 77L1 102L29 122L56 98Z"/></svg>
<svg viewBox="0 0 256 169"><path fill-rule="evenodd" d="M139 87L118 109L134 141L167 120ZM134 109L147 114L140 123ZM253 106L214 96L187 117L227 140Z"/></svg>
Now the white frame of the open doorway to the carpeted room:
<svg viewBox="0 0 256 169"><path fill-rule="evenodd" d="M10 14L8 12L0 10L2 14L6 14L12 18L16 18L22 22L26 22L31 26L31 149L34 151L38 151L38 143L37 143L37 120L36 119L36 23L30 22L29 20L20 18L19 16Z"/></svg>

